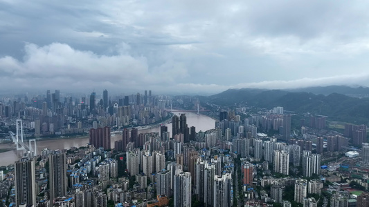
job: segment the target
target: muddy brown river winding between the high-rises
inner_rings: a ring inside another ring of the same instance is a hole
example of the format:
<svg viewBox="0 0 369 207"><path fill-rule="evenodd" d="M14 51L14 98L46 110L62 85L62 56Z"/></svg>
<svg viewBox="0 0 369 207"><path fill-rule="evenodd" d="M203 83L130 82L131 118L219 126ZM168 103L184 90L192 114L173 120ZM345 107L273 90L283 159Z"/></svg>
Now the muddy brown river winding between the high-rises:
<svg viewBox="0 0 369 207"><path fill-rule="evenodd" d="M175 112L177 115L183 112ZM188 127L195 126L196 132L210 130L215 128L215 119L208 117L206 115L197 115L192 112L186 112L187 117L187 125ZM172 123L165 124L168 126L168 132L172 135ZM156 126L148 129L139 129L138 133L147 133L147 132L160 132L160 126ZM114 141L118 139L122 139L120 134L116 134L115 136L111 136L111 148L114 148ZM44 148L48 148L51 150L62 150L62 149L70 149L72 147L79 148L81 146L86 146L89 143L89 137L75 137L69 139L47 139L47 140L39 140L37 141L37 153L39 154ZM28 143L26 143L28 144ZM15 148L14 144L0 144L0 149L4 148ZM22 155L22 150L10 150L7 152L0 153L0 166L8 166L10 164L14 164L15 161L18 161L19 157Z"/></svg>

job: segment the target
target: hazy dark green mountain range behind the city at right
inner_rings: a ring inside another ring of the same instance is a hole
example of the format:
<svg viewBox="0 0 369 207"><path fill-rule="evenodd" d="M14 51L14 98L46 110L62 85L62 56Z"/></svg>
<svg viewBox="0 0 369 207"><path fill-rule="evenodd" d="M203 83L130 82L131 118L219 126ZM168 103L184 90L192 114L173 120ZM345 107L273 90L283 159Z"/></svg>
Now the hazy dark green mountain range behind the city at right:
<svg viewBox="0 0 369 207"><path fill-rule="evenodd" d="M366 98L368 95L369 88L348 86L294 90L242 88L229 89L217 95L206 97L204 100L224 106L235 106L235 103L247 103L248 106L268 109L282 106L289 111L325 115L334 121L368 124L369 99Z"/></svg>

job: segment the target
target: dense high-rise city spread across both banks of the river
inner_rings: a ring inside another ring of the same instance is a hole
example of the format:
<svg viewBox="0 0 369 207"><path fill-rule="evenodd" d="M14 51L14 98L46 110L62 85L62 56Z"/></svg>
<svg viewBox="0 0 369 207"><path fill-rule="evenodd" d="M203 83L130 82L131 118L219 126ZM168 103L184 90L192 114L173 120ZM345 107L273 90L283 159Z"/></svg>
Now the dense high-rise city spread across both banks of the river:
<svg viewBox="0 0 369 207"><path fill-rule="evenodd" d="M368 189L363 177L368 169L366 125L344 124L338 132L329 127L329 117L291 114L284 105L256 110L246 110L247 103L235 108L218 105L195 113L193 109L199 108L195 97L152 92L123 99L109 97L104 90L100 99L96 92L90 98L64 97L57 89L46 90L46 96L39 97L42 104L37 98L3 99L9 103L0 103L1 130L9 133L3 133L4 144L9 145L11 138L17 146L19 135L14 132L20 130L19 143L23 137L39 137L37 146L41 146L35 150L36 139L34 148L23 142L24 148L14 149L23 150L23 157L1 166L3 203L366 204L367 193L353 197L354 190ZM179 110L165 109L172 106ZM20 126L19 119L24 120ZM7 152L1 153L6 157ZM352 169L358 175L344 174ZM26 188L34 185L37 188ZM327 195L328 190L336 193Z"/></svg>

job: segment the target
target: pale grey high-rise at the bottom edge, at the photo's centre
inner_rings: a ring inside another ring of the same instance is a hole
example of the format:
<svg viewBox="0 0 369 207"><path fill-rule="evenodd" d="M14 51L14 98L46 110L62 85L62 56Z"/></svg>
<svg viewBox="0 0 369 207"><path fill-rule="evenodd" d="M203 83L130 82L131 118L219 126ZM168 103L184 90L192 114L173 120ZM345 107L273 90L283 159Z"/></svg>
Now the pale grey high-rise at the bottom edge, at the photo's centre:
<svg viewBox="0 0 369 207"><path fill-rule="evenodd" d="M191 196L191 173L178 170L174 175L174 207L191 207Z"/></svg>

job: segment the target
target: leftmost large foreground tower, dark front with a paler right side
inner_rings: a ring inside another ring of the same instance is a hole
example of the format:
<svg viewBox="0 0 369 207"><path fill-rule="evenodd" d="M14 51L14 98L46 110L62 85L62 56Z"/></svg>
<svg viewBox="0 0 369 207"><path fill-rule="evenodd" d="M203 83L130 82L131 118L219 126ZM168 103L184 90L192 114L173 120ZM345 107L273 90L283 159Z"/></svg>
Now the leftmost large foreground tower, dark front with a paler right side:
<svg viewBox="0 0 369 207"><path fill-rule="evenodd" d="M15 201L16 206L36 205L35 160L27 157L15 162Z"/></svg>

